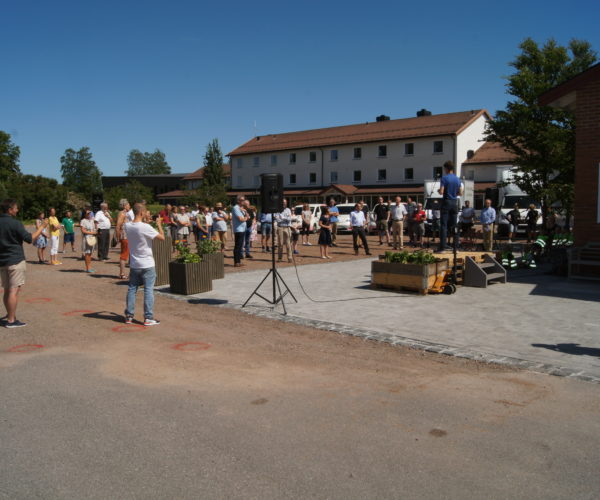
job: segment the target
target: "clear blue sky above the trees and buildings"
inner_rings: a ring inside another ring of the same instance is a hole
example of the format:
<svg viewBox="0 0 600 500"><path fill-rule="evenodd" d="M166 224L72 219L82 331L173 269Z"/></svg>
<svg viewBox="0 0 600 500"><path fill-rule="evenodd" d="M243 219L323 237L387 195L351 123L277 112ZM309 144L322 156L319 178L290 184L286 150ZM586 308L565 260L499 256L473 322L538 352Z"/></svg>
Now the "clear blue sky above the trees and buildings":
<svg viewBox="0 0 600 500"><path fill-rule="evenodd" d="M133 149L202 165L280 133L504 108L503 76L530 36L600 51L600 3L28 1L2 7L0 130L21 170L60 177L89 146L105 175Z"/></svg>

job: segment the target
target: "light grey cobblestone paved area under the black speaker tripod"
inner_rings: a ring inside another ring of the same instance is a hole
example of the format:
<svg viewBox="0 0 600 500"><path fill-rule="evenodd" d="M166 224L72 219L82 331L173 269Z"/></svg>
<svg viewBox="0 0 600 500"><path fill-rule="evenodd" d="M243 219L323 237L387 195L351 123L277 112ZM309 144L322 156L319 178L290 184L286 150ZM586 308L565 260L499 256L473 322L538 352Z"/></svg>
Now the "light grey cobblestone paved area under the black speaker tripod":
<svg viewBox="0 0 600 500"><path fill-rule="evenodd" d="M298 299L296 304L286 297L287 315L281 306L256 297L242 310L365 340L600 383L597 285L517 272L507 285L420 297L371 290L370 259L363 259L299 268L309 299L293 268L281 274ZM213 282L212 292L195 296L177 296L168 287L159 293L240 309L264 275L264 270L228 275ZM267 296L270 283L261 289Z"/></svg>

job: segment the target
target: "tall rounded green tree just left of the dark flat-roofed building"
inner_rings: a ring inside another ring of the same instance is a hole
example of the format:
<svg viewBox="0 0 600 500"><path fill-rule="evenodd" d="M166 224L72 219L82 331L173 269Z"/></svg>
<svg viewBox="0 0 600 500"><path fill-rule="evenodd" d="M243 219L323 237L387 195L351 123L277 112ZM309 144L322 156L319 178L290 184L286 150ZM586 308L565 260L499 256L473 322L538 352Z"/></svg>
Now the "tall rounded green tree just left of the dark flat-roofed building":
<svg viewBox="0 0 600 500"><path fill-rule="evenodd" d="M83 147L79 151L71 148L65 150L60 157L60 171L63 185L91 200L94 193L102 191L102 172L92 159L90 148Z"/></svg>

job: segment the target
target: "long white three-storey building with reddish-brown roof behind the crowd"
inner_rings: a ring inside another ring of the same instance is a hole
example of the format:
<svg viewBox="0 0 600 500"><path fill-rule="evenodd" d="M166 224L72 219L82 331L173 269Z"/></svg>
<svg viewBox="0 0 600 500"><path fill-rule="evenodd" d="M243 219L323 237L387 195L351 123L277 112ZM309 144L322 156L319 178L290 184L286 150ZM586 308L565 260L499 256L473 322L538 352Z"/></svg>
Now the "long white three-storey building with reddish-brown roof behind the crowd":
<svg viewBox="0 0 600 500"><path fill-rule="evenodd" d="M461 175L462 163L483 144L490 119L478 110L255 137L228 155L231 187L250 194L260 189L261 174L280 173L286 194L302 198L304 192L307 201L322 201L319 190L330 196L332 186L349 201L418 197L446 161Z"/></svg>

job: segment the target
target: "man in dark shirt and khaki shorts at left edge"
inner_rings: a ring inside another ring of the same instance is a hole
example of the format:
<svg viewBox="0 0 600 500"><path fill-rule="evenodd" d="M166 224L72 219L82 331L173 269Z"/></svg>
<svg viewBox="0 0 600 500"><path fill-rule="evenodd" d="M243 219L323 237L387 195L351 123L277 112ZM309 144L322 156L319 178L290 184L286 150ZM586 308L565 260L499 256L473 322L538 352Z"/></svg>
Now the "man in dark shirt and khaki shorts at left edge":
<svg viewBox="0 0 600 500"><path fill-rule="evenodd" d="M4 307L6 308L6 317L0 321L6 328L18 328L26 325L15 317L19 291L25 284L23 242L34 242L48 227L48 220L44 220L44 223L31 234L25 230L21 221L15 218L18 212L19 207L14 199L9 198L0 204L0 278L4 288Z"/></svg>

